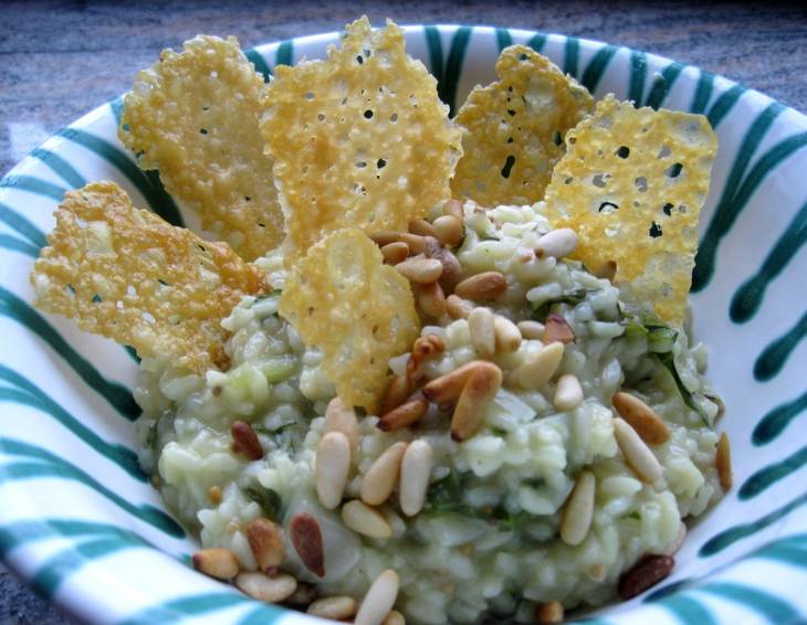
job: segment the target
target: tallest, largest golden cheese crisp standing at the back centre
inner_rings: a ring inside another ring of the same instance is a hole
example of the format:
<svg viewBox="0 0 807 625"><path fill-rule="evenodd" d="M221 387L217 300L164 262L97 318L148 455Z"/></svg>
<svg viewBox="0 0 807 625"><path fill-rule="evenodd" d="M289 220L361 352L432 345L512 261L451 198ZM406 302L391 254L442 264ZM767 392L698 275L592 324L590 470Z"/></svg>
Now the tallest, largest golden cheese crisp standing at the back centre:
<svg viewBox="0 0 807 625"><path fill-rule="evenodd" d="M449 194L460 129L392 22L371 31L361 18L327 60L279 66L266 107L286 266L343 227L406 230Z"/></svg>

